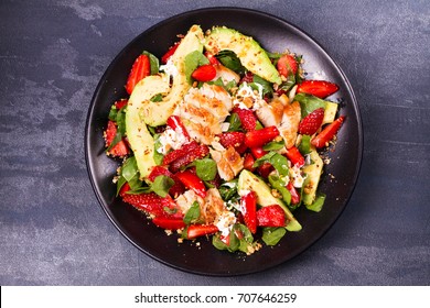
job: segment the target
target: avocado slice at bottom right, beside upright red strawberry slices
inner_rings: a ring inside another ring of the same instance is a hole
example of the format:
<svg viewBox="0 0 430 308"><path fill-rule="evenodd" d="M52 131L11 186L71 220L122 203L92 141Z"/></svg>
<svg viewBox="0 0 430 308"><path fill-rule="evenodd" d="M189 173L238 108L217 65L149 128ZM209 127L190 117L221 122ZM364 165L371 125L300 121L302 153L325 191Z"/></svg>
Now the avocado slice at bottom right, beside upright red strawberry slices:
<svg viewBox="0 0 430 308"><path fill-rule="evenodd" d="M238 185L238 191L240 190L255 191L257 194L257 204L260 205L261 207L279 205L286 212L287 219L289 220L289 223L286 227L288 231L300 231L302 229L299 221L294 218L294 216L282 202L282 200L271 195L270 187L261 178L259 178L251 172L244 169L239 175L239 180L237 185Z"/></svg>

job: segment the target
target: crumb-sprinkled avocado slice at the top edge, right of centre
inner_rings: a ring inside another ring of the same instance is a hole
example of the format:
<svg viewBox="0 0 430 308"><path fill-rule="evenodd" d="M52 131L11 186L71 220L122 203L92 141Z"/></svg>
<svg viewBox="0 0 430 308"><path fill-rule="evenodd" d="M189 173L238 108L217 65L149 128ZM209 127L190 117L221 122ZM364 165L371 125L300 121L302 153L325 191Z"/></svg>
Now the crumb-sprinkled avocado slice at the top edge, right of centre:
<svg viewBox="0 0 430 308"><path fill-rule="evenodd" d="M215 26L205 36L204 45L214 55L221 51L232 51L248 70L270 82L278 85L282 82L278 69L271 63L266 51L250 36L229 28Z"/></svg>

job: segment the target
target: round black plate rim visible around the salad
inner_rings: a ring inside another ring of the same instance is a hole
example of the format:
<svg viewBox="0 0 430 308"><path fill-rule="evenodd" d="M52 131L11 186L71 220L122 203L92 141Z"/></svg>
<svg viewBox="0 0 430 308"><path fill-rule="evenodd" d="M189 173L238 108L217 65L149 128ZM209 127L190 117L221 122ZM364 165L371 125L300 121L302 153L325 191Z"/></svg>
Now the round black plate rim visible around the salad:
<svg viewBox="0 0 430 308"><path fill-rule="evenodd" d="M326 79L340 85L332 100L342 100L341 114L346 116L335 152L330 153L332 163L326 166L319 190L327 195L320 213L299 209L294 215L303 230L288 233L273 248L264 246L259 252L244 256L217 251L212 243L201 240L178 244L178 237L166 237L164 231L148 222L146 217L131 206L115 197L112 177L118 161L104 153L103 130L114 101L126 97L123 85L135 58L143 51L157 56L185 34L192 24L203 30L213 25L226 25L254 36L270 52L291 52L304 56L308 72L324 72ZM362 160L363 138L358 106L352 87L341 68L326 52L297 26L266 13L237 9L214 8L183 13L170 18L144 31L128 44L112 61L97 86L89 107L86 125L86 158L89 178L96 196L108 218L137 248L155 260L179 270L205 275L240 275L267 270L303 252L334 223L345 208L356 183ZM334 178L333 178L334 177Z"/></svg>

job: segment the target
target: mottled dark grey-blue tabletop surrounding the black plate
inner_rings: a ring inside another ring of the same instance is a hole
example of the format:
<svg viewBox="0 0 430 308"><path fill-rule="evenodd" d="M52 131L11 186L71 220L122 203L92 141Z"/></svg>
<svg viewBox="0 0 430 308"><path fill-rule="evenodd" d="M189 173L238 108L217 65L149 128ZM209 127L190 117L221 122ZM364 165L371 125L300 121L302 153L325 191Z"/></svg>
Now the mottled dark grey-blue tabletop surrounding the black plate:
<svg viewBox="0 0 430 308"><path fill-rule="evenodd" d="M89 102L112 58L149 26L216 6L275 14L321 43L355 90L365 142L354 195L316 244L225 278L130 244L84 157ZM1 285L429 285L429 1L1 0L0 40Z"/></svg>

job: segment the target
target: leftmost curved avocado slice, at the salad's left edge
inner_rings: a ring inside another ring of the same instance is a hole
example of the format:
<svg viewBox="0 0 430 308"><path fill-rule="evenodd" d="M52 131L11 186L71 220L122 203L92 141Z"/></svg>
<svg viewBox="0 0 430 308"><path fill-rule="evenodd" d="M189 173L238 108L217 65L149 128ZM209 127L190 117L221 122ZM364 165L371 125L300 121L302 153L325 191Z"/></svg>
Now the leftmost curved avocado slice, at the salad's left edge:
<svg viewBox="0 0 430 308"><path fill-rule="evenodd" d="M154 140L142 121L141 111L150 99L158 94L169 91L170 80L168 75L151 75L140 80L128 100L126 110L126 131L128 142L135 153L140 178L149 175L155 166L153 158Z"/></svg>

